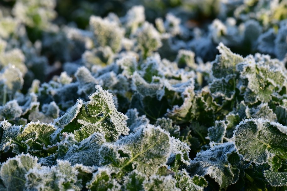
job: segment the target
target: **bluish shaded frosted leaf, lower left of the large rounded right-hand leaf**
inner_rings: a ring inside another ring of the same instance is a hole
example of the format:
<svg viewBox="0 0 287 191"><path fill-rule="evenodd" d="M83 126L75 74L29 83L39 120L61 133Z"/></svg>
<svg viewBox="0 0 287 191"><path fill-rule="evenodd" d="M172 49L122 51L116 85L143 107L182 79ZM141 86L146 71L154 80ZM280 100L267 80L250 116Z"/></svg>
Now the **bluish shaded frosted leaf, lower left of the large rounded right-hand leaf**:
<svg viewBox="0 0 287 191"><path fill-rule="evenodd" d="M223 143L210 150L199 152L190 163L192 175L209 175L225 188L237 182L239 178L240 157L233 143Z"/></svg>

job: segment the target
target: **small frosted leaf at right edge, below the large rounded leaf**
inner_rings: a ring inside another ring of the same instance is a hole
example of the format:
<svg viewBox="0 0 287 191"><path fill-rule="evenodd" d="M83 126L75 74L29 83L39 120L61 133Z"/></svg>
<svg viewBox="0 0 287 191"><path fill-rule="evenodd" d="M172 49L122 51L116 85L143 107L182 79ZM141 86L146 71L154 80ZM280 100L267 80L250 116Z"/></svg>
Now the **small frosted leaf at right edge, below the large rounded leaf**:
<svg viewBox="0 0 287 191"><path fill-rule="evenodd" d="M266 170L264 176L272 186L287 186L287 172Z"/></svg>

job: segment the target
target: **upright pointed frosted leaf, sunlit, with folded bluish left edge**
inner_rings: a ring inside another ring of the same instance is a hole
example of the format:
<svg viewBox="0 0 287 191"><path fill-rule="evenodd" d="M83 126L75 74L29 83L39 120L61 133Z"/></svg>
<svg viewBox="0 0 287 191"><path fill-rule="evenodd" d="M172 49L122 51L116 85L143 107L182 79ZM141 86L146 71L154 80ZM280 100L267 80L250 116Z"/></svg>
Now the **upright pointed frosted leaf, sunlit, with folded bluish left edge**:
<svg viewBox="0 0 287 191"><path fill-rule="evenodd" d="M97 85L96 92L89 99L88 102L78 101L69 112L55 120L56 125L64 126L61 132L73 132L78 141L94 132L103 133L108 141L128 134L127 117L117 111L109 91Z"/></svg>

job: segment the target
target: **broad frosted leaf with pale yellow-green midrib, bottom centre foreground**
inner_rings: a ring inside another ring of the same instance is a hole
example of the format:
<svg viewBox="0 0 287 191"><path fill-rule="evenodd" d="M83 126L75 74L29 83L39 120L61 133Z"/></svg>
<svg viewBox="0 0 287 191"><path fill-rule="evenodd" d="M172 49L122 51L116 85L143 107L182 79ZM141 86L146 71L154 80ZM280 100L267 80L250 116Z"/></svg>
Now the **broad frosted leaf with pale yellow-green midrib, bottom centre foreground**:
<svg viewBox="0 0 287 191"><path fill-rule="evenodd" d="M105 143L101 150L102 164L117 170L137 171L152 175L170 155L170 137L159 127L148 125L115 143Z"/></svg>

